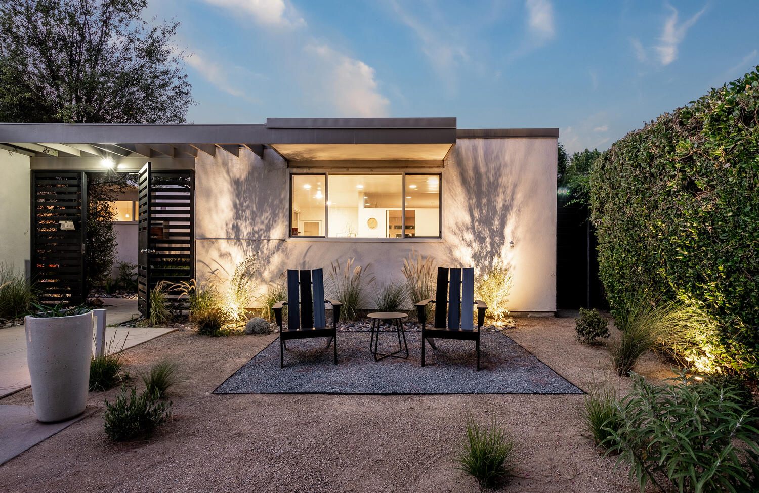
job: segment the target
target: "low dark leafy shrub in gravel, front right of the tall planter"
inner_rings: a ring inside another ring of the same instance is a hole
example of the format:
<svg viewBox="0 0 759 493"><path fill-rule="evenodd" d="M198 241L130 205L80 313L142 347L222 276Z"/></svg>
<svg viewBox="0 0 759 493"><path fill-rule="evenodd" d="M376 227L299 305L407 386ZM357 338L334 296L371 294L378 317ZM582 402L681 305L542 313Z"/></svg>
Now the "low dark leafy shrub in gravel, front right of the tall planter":
<svg viewBox="0 0 759 493"><path fill-rule="evenodd" d="M106 434L113 441L150 437L156 426L172 415L171 408L172 403L162 402L158 394L143 392L138 396L134 387L127 394L126 385L122 385L115 404L106 400Z"/></svg>

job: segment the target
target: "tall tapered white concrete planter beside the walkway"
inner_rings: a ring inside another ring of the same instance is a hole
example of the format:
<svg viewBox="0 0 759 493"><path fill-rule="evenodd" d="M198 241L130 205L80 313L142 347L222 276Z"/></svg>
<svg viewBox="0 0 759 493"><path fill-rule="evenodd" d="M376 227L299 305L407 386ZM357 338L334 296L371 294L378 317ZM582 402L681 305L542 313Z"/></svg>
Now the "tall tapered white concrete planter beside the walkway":
<svg viewBox="0 0 759 493"><path fill-rule="evenodd" d="M90 386L93 312L25 319L27 363L37 419L63 421L83 413Z"/></svg>

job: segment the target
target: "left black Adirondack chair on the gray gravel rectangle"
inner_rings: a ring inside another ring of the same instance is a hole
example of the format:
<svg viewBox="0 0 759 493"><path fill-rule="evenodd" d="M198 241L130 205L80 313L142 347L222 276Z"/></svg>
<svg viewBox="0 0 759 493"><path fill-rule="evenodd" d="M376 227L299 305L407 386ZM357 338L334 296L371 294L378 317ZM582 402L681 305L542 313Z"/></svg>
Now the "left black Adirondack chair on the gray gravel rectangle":
<svg viewBox="0 0 759 493"><path fill-rule="evenodd" d="M324 305L332 305L332 325L327 326ZM282 328L282 308L288 307L288 326ZM342 303L324 299L324 275L322 269L287 272L287 301L280 301L272 307L274 318L279 325L279 367L285 368L285 341L291 339L330 338L327 348L335 343L335 365L337 364L337 321Z"/></svg>

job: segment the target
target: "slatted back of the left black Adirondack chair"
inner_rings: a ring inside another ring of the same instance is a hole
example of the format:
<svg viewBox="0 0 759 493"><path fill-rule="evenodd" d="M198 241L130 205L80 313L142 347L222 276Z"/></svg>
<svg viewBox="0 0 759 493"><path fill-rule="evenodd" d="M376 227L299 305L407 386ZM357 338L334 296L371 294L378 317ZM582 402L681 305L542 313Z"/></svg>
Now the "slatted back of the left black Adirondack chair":
<svg viewBox="0 0 759 493"><path fill-rule="evenodd" d="M287 272L288 328L326 327L322 269Z"/></svg>

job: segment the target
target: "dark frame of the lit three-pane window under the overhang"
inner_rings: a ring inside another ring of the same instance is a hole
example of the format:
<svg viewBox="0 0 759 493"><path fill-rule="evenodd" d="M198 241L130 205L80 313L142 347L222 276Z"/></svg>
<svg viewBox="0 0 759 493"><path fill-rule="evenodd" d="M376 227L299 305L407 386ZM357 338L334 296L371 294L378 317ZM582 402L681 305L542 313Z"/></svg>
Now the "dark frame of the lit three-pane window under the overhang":
<svg viewBox="0 0 759 493"><path fill-rule="evenodd" d="M330 237L329 236L329 205L327 202L329 202L329 175L335 175L335 176L372 176L372 175L378 175L378 176L385 176L385 175L399 175L401 176L401 231L403 231L402 237L400 238L386 238L386 237L355 237L355 238L341 238L341 237ZM308 240L327 240L327 241L379 241L379 242L407 242L407 243L414 243L414 242L420 242L420 241L442 241L442 170L435 169L435 170L429 170L424 171L423 169L420 170L414 170L414 171L397 171L394 169L377 169L373 168L371 170L367 171L361 171L357 169L351 169L350 171L343 171L340 169L325 169L324 171L313 171L313 170L304 170L304 171L297 171L292 170L288 172L288 234L287 239L288 240L301 240L301 241L308 241ZM292 186L292 179L293 176L323 176L324 177L324 234L320 236L293 236L292 235L292 195L293 195L293 186ZM414 237L406 237L405 231L406 231L406 176L436 176L438 178L439 187L437 190L437 201L438 201L438 234L437 236L414 236Z"/></svg>

